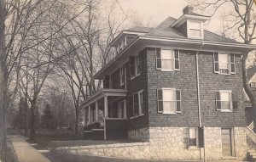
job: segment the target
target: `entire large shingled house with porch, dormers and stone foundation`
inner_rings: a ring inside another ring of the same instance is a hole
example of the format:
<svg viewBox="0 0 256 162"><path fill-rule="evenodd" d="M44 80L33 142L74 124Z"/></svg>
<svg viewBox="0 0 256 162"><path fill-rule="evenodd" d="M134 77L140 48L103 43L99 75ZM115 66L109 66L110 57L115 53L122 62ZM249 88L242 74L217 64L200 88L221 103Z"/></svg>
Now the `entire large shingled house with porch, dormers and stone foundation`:
<svg viewBox="0 0 256 162"><path fill-rule="evenodd" d="M241 55L256 47L204 30L207 20L187 6L122 31L94 75L102 90L82 104L84 137L149 142L151 159L247 159Z"/></svg>

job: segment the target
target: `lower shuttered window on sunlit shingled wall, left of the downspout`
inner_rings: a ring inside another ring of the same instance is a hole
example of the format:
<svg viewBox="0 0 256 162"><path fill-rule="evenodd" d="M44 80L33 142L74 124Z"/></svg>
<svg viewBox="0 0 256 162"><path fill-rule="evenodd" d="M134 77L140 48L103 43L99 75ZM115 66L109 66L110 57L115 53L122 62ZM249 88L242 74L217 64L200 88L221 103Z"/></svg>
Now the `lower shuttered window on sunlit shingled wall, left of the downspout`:
<svg viewBox="0 0 256 162"><path fill-rule="evenodd" d="M173 114L181 112L181 94L179 90L162 88L157 90L158 112Z"/></svg>

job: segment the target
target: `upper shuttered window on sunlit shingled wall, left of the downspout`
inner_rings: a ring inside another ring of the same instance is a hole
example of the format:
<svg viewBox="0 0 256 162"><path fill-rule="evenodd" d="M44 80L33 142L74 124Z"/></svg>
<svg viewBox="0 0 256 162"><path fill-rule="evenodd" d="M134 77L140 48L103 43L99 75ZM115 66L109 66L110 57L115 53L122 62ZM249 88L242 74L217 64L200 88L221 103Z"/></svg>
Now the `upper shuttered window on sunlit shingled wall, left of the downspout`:
<svg viewBox="0 0 256 162"><path fill-rule="evenodd" d="M179 70L179 51L177 49L156 48L156 69L162 71Z"/></svg>

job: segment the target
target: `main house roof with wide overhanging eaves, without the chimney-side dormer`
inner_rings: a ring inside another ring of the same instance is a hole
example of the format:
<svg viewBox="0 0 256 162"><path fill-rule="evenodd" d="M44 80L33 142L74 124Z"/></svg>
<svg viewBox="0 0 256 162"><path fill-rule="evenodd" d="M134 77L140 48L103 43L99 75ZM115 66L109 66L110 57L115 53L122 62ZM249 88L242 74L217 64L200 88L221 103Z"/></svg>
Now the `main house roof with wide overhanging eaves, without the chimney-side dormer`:
<svg viewBox="0 0 256 162"><path fill-rule="evenodd" d="M106 75L106 72L109 73L109 71L114 70L115 68L118 68L119 64L125 59L128 58L128 55L132 53L137 53L136 50L139 50L141 47L145 47L150 42L152 43L171 43L174 46L185 46L185 47L191 47L191 48L199 48L202 44L204 44L204 47L208 47L211 49L216 50L228 50L232 52L241 52L243 50L245 51L252 51L256 49L255 45L247 45L241 42L236 42L233 39L226 38L224 36L219 36L211 31L204 30L204 39L193 39L188 38L187 36L184 36L181 31L178 31L177 28L172 27L172 24L176 21L176 19L172 17L167 17L166 20L160 23L160 25L157 25L155 28L148 28L148 27L140 27L136 26L133 28L130 28L126 31L122 31L117 38L113 40L113 42L116 42L120 36L125 36L125 32L133 32L138 33L137 37L134 39L133 42L131 42L129 45L127 45L120 53L118 53L108 64L106 64L104 67L102 67L101 70L99 70L94 77L96 79L102 79L103 75ZM185 42L185 44L184 44ZM142 49L141 49L142 50ZM128 55L127 55L128 54ZM126 56L127 55L127 56ZM119 61L117 61L119 60Z"/></svg>

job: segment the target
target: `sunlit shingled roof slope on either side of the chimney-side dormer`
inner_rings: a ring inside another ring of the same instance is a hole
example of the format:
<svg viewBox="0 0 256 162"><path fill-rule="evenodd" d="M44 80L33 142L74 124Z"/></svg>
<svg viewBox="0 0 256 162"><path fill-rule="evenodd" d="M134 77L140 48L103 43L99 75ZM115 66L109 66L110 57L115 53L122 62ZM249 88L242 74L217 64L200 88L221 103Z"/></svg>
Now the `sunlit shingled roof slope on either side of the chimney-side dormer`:
<svg viewBox="0 0 256 162"><path fill-rule="evenodd" d="M172 37L172 38L184 38L189 39L187 36L184 36L181 31L178 31L176 28L171 27L176 19L168 17L166 20L157 25L154 30L148 32L146 36L163 36L163 37ZM211 31L204 30L204 40L212 42L236 42L233 39L219 36Z"/></svg>

